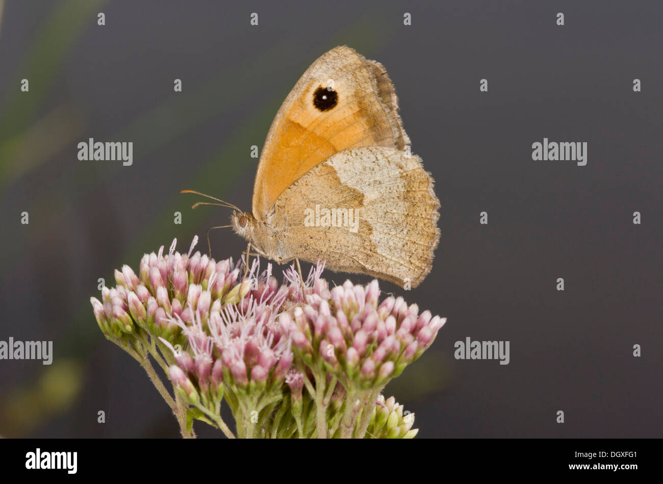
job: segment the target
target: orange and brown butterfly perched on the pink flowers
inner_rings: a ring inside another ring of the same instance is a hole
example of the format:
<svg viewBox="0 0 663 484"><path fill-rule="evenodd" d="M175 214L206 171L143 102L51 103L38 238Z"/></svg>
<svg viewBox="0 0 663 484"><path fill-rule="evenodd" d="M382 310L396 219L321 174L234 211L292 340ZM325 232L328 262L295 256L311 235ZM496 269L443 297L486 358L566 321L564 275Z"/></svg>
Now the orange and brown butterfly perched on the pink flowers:
<svg viewBox="0 0 663 484"><path fill-rule="evenodd" d="M276 113L251 212L213 199L234 209L223 227L267 259L322 260L404 288L428 275L440 240L440 201L410 152L394 86L347 46L318 58Z"/></svg>

